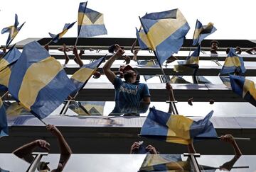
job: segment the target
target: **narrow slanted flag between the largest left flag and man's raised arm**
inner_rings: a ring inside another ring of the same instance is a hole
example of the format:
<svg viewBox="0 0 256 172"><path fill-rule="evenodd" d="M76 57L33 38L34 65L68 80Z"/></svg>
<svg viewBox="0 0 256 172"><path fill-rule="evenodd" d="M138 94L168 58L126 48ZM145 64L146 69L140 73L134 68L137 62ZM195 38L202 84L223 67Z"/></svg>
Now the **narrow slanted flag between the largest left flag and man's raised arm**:
<svg viewBox="0 0 256 172"><path fill-rule="evenodd" d="M92 74L100 67L100 64L105 60L105 57L101 57L100 59L95 60L90 64L83 65L78 71L75 71L75 74L71 76L70 81L75 85L75 91L79 91L82 86L85 85Z"/></svg>

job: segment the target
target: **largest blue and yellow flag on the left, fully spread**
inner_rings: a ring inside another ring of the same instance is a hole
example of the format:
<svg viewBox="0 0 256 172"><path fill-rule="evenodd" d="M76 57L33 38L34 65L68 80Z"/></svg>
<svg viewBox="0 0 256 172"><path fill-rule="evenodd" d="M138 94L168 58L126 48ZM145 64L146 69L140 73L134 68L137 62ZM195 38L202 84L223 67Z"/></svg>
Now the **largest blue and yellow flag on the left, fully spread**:
<svg viewBox="0 0 256 172"><path fill-rule="evenodd" d="M60 62L36 41L24 46L9 81L9 92L16 101L43 119L73 91L75 86Z"/></svg>

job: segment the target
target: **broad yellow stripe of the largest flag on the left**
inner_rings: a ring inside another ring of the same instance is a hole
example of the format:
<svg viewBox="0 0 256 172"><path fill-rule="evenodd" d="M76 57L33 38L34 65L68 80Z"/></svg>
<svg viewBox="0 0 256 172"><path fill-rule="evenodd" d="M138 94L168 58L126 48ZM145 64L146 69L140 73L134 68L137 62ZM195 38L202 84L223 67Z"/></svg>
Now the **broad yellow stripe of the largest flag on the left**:
<svg viewBox="0 0 256 172"><path fill-rule="evenodd" d="M63 67L54 57L32 64L23 76L18 100L28 109L35 103L38 92L52 81ZM35 79L35 81L33 81Z"/></svg>

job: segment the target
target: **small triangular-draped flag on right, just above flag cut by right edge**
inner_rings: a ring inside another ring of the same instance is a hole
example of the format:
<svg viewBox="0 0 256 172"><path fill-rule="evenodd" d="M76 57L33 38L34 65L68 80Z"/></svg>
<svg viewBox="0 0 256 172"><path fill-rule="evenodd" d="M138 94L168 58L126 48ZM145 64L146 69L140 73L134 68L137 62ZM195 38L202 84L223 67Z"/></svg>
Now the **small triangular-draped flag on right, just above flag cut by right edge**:
<svg viewBox="0 0 256 172"><path fill-rule="evenodd" d="M225 59L223 68L220 70L220 74L232 74L245 73L245 64L242 57L235 53L235 49L230 47L230 52L228 52L228 57Z"/></svg>

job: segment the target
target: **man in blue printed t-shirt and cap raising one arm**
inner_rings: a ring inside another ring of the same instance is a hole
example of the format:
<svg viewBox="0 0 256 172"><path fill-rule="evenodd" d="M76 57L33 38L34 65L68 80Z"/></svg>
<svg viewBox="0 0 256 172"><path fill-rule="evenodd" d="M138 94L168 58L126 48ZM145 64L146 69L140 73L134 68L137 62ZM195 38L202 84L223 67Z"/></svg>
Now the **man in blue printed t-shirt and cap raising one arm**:
<svg viewBox="0 0 256 172"><path fill-rule="evenodd" d="M125 81L119 79L114 72L111 71L110 67L114 60L122 57L123 54L124 50L119 48L117 53L110 57L103 67L107 79L114 85L115 90L115 108L112 113L122 113L122 109L127 107L148 107L150 103L149 88L146 84L139 83L139 73L136 70L129 65L124 67L122 72L124 73Z"/></svg>

